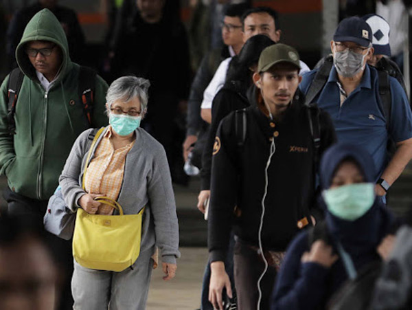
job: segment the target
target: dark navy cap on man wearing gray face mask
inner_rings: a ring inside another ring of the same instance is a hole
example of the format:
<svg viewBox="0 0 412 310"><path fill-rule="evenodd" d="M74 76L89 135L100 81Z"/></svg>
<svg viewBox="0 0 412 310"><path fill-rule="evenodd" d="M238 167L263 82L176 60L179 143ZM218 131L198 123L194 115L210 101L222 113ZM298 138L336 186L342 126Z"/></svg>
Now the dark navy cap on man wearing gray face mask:
<svg viewBox="0 0 412 310"><path fill-rule="evenodd" d="M360 17L348 17L339 23L333 41L349 41L368 47L372 43L372 30L367 22Z"/></svg>

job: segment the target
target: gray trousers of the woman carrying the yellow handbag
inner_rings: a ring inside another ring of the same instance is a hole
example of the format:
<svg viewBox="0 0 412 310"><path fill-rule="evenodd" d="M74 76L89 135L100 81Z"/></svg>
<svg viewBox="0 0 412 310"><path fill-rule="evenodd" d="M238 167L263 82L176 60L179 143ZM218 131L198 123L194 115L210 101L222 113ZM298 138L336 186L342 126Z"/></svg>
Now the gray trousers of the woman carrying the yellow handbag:
<svg viewBox="0 0 412 310"><path fill-rule="evenodd" d="M146 308L153 250L140 253L132 268L107 272L74 261L71 294L74 310L142 310Z"/></svg>

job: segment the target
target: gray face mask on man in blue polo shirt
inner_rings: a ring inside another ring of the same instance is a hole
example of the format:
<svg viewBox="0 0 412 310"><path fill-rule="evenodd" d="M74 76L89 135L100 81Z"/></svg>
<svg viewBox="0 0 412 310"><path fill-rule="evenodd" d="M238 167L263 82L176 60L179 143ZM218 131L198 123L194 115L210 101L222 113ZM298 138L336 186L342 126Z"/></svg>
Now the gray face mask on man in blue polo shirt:
<svg viewBox="0 0 412 310"><path fill-rule="evenodd" d="M366 56L367 53L365 55L357 54L352 52L350 49L346 49L345 52L337 52L335 50L333 64L340 76L350 78L352 76L356 76L356 74L365 69L365 65L363 63Z"/></svg>

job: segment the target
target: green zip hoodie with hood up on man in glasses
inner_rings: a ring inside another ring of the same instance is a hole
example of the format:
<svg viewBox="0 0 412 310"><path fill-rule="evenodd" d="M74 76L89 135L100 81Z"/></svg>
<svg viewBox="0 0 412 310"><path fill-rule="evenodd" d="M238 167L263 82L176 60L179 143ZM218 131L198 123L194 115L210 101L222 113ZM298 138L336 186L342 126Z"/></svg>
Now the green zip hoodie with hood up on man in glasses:
<svg viewBox="0 0 412 310"><path fill-rule="evenodd" d="M50 41L62 51L62 65L49 91L45 91L25 54L29 41ZM71 146L89 127L80 102L80 66L69 58L67 38L56 16L41 10L25 27L16 49L16 59L24 73L16 103L16 134L8 133L8 76L0 91L0 173L8 178L11 190L32 199L45 200L58 186ZM95 79L92 125L106 126L104 114L107 84Z"/></svg>

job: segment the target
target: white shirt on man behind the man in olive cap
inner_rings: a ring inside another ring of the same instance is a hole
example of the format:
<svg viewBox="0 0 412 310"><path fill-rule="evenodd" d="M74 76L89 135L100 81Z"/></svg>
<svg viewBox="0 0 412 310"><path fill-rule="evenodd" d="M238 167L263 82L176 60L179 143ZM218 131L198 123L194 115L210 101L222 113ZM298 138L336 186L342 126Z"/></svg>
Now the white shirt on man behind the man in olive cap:
<svg viewBox="0 0 412 310"><path fill-rule="evenodd" d="M231 62L231 60L232 57L229 57L220 63L214 77L211 79L209 85L207 85L205 92L203 93L203 101L201 105L202 109L211 109L211 104L213 102L214 96L216 96L216 93L218 93L223 85L225 85L227 69L229 69L229 63ZM306 74L306 72L309 72L310 69L308 65L306 65L306 63L304 63L302 60L299 61L301 65L299 76L301 76L303 74Z"/></svg>

